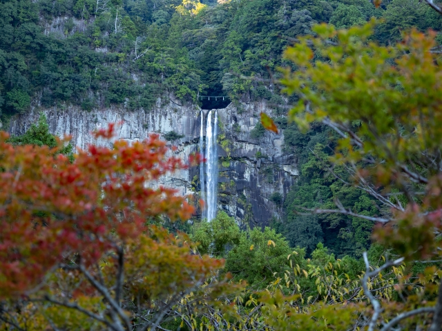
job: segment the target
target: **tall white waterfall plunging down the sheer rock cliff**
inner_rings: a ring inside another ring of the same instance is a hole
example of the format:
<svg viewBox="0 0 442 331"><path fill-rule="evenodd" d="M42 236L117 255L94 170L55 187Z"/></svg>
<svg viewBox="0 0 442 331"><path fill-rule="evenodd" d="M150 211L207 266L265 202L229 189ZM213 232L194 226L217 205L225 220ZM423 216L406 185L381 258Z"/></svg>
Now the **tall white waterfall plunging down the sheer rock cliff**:
<svg viewBox="0 0 442 331"><path fill-rule="evenodd" d="M202 114L201 114L202 116ZM212 116L213 122L212 123ZM201 119L201 123L203 120ZM201 128L203 126L201 125ZM206 210L204 210L203 217L207 221L211 221L216 217L216 202L218 198L218 143L216 141L218 135L218 112L217 110L210 110L206 121L206 149L204 157L206 164L201 165L200 181L201 181L201 196L205 199ZM203 150L202 139L203 129L200 130L200 150Z"/></svg>

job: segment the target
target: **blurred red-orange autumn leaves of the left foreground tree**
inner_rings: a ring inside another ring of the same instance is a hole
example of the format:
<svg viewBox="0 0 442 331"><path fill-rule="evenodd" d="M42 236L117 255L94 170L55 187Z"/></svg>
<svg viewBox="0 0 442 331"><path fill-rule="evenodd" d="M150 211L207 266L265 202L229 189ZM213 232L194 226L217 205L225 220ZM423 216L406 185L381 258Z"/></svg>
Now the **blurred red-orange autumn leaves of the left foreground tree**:
<svg viewBox="0 0 442 331"><path fill-rule="evenodd" d="M113 128L95 136L109 139ZM187 166L166 157L155 134L131 144L116 141L113 148L88 146L73 163L55 155L58 148L13 147L6 139L0 132L2 299L26 293L67 257L87 266L115 243L133 245L151 217L185 220L193 212L175 190L148 185Z"/></svg>

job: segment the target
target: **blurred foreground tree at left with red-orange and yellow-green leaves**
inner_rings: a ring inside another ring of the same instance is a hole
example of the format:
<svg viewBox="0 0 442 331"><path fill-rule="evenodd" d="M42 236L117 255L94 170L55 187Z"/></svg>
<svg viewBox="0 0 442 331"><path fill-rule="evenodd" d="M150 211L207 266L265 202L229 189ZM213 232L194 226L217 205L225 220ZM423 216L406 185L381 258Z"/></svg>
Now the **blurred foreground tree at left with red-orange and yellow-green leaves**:
<svg viewBox="0 0 442 331"><path fill-rule="evenodd" d="M95 134L112 135L113 125ZM7 139L1 132L0 186L9 188L0 192L4 328L157 330L180 314L215 309L236 288L215 277L222 260L193 254L184 234L153 225L193 212L175 190L153 188L189 166L166 157L156 135L89 146L73 163L59 154L63 141L48 148Z"/></svg>

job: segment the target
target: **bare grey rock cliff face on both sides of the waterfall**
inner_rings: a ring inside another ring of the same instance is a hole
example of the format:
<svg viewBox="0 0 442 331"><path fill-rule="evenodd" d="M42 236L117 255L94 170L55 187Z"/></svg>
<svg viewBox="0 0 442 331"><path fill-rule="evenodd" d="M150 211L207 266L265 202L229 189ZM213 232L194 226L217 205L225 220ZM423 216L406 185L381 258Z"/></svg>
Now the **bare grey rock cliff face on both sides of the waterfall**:
<svg viewBox="0 0 442 331"><path fill-rule="evenodd" d="M149 133L165 134L175 131L184 137L171 142L177 146L176 154L187 158L198 152L200 140L200 108L180 106L159 99L150 111L129 112L124 108L106 108L84 112L76 107L41 109L33 107L10 122L10 133L21 134L37 121L39 112L48 117L50 131L62 137L70 134L73 144L86 148L94 141L90 132L106 127L107 123L121 122L117 138L135 141ZM203 110L207 112L208 110ZM251 131L259 121L259 114L271 114L264 104L243 104L241 108L228 106L218 110L218 209L236 217L238 223L251 226L268 225L272 217L281 217L280 199L285 198L293 185L298 170L293 156L282 150L282 134L265 132L253 139ZM199 194L199 168L175 172L164 177L163 185L177 188L182 194Z"/></svg>

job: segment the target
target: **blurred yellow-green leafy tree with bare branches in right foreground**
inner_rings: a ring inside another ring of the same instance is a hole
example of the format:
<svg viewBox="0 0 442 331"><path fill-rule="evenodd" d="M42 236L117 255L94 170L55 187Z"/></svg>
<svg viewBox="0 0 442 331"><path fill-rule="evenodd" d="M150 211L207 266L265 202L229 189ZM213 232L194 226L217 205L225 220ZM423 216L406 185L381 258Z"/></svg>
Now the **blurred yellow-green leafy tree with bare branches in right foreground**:
<svg viewBox="0 0 442 331"><path fill-rule="evenodd" d="M397 257L370 270L365 253L362 284L373 312L363 325L390 330L411 323L440 330L440 263L421 268L436 278L408 286L420 295L403 295L402 281L395 285L397 316L388 317L397 306L380 301L369 286L370 277L402 261L439 260L442 230L442 71L440 55L432 52L435 34L412 30L401 44L378 46L369 39L375 23L339 31L316 26L318 37L300 37L287 50L297 70L286 70L282 83L300 97L289 117L300 128L320 121L336 132L338 146L327 170L343 182L352 179L349 185L369 194L378 210L355 212L336 200L337 209L309 211L373 221L373 238Z"/></svg>

